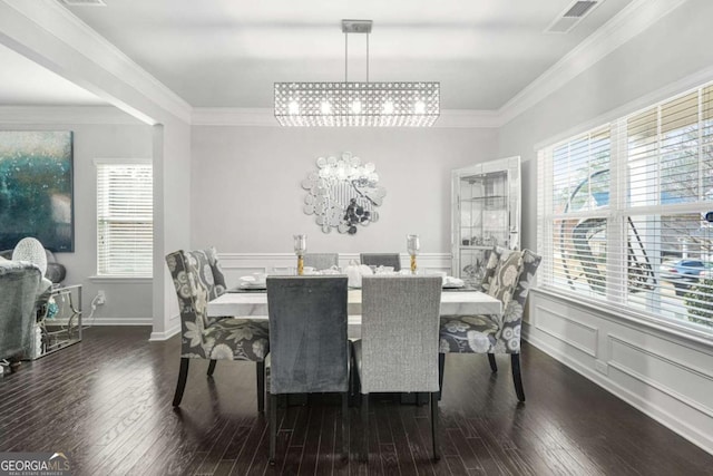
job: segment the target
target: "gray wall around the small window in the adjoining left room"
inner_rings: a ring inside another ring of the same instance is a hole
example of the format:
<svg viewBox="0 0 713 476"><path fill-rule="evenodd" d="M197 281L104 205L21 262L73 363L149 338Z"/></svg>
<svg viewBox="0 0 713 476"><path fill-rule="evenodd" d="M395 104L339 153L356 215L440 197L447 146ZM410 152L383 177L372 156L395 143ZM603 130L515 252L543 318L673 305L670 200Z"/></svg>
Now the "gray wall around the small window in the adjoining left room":
<svg viewBox="0 0 713 476"><path fill-rule="evenodd" d="M0 123L3 117L0 116ZM92 280L97 274L97 210L95 158L150 158L152 128L144 125L2 124L6 130L72 130L75 252L57 253L67 268L65 284L82 284L84 318L101 289L106 304L95 312L97 323L152 323L152 281ZM85 321L86 322L86 321Z"/></svg>

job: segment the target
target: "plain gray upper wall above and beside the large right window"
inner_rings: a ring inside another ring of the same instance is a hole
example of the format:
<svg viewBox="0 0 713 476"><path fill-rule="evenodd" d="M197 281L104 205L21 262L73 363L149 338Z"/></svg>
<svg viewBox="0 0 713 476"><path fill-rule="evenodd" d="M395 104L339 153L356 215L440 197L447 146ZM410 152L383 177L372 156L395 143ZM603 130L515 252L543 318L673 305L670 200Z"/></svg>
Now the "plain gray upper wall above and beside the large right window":
<svg viewBox="0 0 713 476"><path fill-rule="evenodd" d="M616 118L607 117L614 109L624 110L618 116L633 113L627 104L713 66L711 19L713 1L688 0L500 128L498 155L520 155L524 161L522 196L530 200L522 202L522 246L536 246L536 144L605 124ZM662 91L660 99L668 95ZM592 123L597 117L602 122Z"/></svg>

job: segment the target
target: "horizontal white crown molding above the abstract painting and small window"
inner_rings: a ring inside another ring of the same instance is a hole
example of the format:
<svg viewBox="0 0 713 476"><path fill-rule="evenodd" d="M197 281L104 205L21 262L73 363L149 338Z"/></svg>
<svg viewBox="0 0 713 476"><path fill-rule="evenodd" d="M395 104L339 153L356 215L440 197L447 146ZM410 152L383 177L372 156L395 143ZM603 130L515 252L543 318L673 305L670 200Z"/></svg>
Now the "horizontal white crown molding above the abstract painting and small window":
<svg viewBox="0 0 713 476"><path fill-rule="evenodd" d="M0 124L145 125L111 106L0 106Z"/></svg>

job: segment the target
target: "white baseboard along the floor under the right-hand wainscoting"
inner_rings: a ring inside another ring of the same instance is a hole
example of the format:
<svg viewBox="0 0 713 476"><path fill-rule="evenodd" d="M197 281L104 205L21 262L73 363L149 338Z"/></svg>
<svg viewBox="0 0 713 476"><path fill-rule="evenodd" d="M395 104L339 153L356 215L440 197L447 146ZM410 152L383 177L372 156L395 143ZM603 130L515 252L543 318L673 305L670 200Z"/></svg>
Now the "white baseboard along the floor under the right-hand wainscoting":
<svg viewBox="0 0 713 476"><path fill-rule="evenodd" d="M612 381L603 375L592 370L590 368L583 366L579 361L567 356L565 352L547 344L544 340L539 339L536 336L536 332L531 332L531 328L529 324L524 323L522 326L522 339L528 341L531 346L569 367L577 373L604 388L608 392L614 396L621 398L626 401L632 407L641 410L646 416L653 418L658 421L666 428L687 439L695 446L700 447L706 453L713 455L713 435L701 431L700 429L693 427L690 424L686 424L681 418L677 418L675 415L672 415L670 411L664 408L653 405L647 401L643 396L634 394L628 389L619 386L618 383Z"/></svg>

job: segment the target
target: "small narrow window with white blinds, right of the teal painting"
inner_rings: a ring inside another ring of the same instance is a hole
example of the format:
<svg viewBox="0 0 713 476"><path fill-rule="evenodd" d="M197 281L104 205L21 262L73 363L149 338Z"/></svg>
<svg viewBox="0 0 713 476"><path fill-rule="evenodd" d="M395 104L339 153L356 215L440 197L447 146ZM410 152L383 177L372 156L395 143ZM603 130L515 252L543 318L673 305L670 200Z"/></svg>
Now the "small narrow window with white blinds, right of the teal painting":
<svg viewBox="0 0 713 476"><path fill-rule="evenodd" d="M150 278L153 172L150 161L97 161L97 274Z"/></svg>

